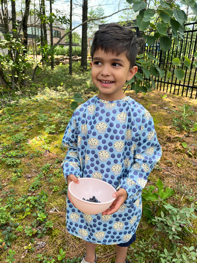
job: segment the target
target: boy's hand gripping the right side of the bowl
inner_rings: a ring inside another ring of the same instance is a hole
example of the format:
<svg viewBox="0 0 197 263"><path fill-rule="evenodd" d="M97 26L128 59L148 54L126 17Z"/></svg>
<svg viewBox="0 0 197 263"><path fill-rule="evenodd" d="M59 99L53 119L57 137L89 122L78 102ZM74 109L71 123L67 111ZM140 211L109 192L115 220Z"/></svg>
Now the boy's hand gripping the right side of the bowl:
<svg viewBox="0 0 197 263"><path fill-rule="evenodd" d="M102 215L111 215L118 211L118 209L127 199L127 191L124 188L120 188L117 192L113 193L113 197L115 197L116 199L107 210L102 212Z"/></svg>

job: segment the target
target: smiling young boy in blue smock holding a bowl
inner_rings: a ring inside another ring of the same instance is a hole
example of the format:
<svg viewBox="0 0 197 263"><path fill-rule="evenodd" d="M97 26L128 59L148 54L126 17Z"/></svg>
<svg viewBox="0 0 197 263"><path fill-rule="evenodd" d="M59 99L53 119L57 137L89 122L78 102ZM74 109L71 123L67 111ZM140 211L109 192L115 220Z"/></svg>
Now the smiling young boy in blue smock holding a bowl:
<svg viewBox="0 0 197 263"><path fill-rule="evenodd" d="M115 263L127 263L142 213L141 191L161 158L150 113L122 89L137 72L137 42L130 29L115 23L96 32L91 69L99 94L74 111L63 138L68 185L92 177L117 189L111 207L91 216L76 209L67 194L67 230L86 241L81 263L97 262L97 244L114 244Z"/></svg>

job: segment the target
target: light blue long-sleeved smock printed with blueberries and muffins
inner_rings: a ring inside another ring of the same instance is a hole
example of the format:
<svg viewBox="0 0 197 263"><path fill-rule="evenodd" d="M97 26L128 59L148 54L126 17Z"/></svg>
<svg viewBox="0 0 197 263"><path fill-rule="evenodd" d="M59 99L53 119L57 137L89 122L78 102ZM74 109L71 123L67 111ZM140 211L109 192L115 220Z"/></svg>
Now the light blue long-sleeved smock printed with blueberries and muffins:
<svg viewBox="0 0 197 263"><path fill-rule="evenodd" d="M74 111L63 144L65 177L98 178L128 193L112 215L83 214L67 199L68 232L97 244L128 242L141 218L141 191L162 154L150 113L129 96L117 101L94 96Z"/></svg>

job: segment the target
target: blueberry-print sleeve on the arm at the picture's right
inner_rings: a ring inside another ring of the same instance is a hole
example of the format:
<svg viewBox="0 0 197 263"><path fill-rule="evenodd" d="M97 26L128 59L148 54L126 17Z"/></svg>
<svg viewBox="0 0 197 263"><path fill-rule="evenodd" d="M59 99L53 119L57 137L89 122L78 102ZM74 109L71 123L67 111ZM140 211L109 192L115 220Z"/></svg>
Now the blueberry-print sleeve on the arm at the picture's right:
<svg viewBox="0 0 197 263"><path fill-rule="evenodd" d="M140 126L135 124L132 128L132 132L135 132L136 140L131 146L131 156L133 155L131 168L127 177L122 178L118 186L118 188L126 189L128 198L125 203L129 205L134 203L141 195L150 172L162 155L153 118L148 111L142 116L140 122L142 123Z"/></svg>

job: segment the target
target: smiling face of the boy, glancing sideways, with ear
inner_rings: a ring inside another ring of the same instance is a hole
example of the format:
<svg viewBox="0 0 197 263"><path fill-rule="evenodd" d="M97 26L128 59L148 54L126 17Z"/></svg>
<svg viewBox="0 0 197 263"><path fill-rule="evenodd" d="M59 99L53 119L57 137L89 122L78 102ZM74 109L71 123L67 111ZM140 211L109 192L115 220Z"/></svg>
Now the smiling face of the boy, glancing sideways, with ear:
<svg viewBox="0 0 197 263"><path fill-rule="evenodd" d="M99 89L98 97L107 101L123 99L125 95L122 87L137 72L136 66L130 68L125 53L116 55L100 48L95 51L90 65L93 83Z"/></svg>

